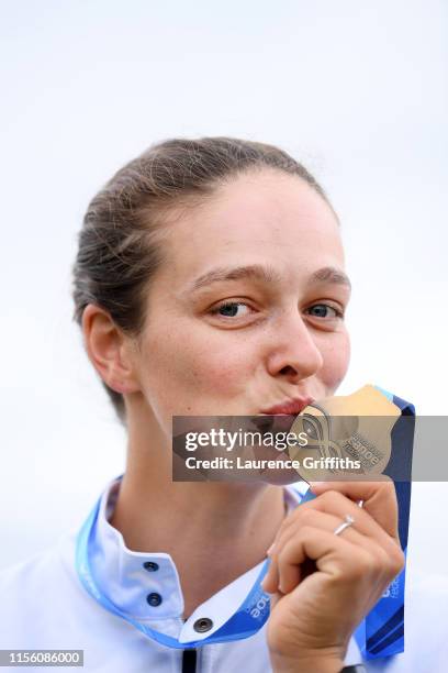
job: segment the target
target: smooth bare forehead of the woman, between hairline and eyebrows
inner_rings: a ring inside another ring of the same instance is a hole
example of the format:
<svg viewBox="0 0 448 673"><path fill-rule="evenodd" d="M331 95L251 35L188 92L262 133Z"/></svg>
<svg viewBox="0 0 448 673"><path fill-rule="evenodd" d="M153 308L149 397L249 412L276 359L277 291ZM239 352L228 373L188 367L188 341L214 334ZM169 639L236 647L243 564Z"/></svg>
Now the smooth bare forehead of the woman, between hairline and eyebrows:
<svg viewBox="0 0 448 673"><path fill-rule="evenodd" d="M168 225L171 283L228 264L266 264L285 278L344 266L339 225L331 207L304 180L279 172L238 176Z"/></svg>

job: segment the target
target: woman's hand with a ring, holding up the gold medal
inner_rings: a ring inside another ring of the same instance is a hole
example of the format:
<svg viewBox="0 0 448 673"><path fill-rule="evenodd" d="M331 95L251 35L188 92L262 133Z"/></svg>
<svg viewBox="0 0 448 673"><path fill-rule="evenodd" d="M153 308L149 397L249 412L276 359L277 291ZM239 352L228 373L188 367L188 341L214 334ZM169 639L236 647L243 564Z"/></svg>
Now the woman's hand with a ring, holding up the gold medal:
<svg viewBox="0 0 448 673"><path fill-rule="evenodd" d="M349 639L404 565L392 482L320 483L280 527L262 586L276 673L333 673ZM363 500L363 507L357 505ZM339 536L346 515L354 525Z"/></svg>

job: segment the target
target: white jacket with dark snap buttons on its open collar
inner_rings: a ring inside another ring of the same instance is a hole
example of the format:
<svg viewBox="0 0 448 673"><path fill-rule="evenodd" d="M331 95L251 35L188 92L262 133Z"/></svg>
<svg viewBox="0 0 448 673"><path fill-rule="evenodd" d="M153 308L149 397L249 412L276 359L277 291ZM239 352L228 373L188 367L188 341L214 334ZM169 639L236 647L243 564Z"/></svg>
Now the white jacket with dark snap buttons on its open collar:
<svg viewBox="0 0 448 673"><path fill-rule="evenodd" d="M236 611L262 564L212 596L183 622L181 587L169 554L128 550L121 533L108 521L119 487L119 481L112 482L101 498L98 519L101 558L96 563L101 588L121 610L159 632L184 641L209 637ZM294 507L300 496L288 487L285 499L289 507ZM68 533L48 551L0 573L0 649L83 650L83 670L88 672L194 670L187 668L186 661L182 669L182 650L158 644L87 593L75 567L76 537L77 531ZM148 562L149 572L143 565ZM149 605L149 594L159 596L160 603ZM203 635L193 627L199 618L213 622ZM267 673L271 668L266 626L244 640L198 648L195 658L198 673L231 673L239 669L245 673ZM359 649L351 639L345 663L360 662ZM405 652L363 665L367 671L388 673L448 670L448 577L429 577L413 585L412 575L407 576Z"/></svg>

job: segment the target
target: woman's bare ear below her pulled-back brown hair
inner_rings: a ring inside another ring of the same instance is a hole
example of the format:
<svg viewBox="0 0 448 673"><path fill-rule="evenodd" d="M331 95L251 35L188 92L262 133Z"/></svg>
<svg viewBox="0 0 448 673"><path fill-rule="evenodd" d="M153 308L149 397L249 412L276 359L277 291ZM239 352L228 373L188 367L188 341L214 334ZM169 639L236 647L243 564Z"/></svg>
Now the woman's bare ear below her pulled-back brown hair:
<svg viewBox="0 0 448 673"><path fill-rule="evenodd" d="M103 382L116 393L139 390L131 357L131 339L116 327L108 311L89 304L82 313L82 333L89 360Z"/></svg>

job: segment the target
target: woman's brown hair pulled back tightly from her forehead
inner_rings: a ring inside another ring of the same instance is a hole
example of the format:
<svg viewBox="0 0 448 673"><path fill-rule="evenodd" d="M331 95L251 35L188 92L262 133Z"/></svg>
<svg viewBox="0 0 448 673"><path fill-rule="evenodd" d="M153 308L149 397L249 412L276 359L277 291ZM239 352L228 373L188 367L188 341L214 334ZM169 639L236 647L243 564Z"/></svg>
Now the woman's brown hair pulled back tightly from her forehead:
<svg viewBox="0 0 448 673"><path fill-rule="evenodd" d="M145 323L145 294L164 262L164 222L178 208L213 197L237 175L260 169L295 175L331 206L314 177L287 152L234 137L173 139L150 146L121 168L91 200L74 264L74 320L81 326L88 304L108 311L126 334ZM121 393L103 380L116 415L126 424Z"/></svg>

